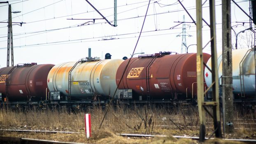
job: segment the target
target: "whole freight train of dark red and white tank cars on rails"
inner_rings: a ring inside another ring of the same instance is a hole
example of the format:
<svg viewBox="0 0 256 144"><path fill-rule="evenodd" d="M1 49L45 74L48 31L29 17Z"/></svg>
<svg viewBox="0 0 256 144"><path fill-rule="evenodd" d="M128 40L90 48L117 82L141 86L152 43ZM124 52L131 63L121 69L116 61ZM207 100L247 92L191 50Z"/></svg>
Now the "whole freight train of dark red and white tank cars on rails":
<svg viewBox="0 0 256 144"><path fill-rule="evenodd" d="M240 56L242 67L247 71L247 64L255 60L251 51ZM210 55L203 53L203 58L207 63ZM221 65L221 57L218 64ZM250 69L249 73L255 75L255 70ZM211 77L207 69L205 75L206 89ZM247 92L251 93L246 84L252 78L247 76L243 71L240 78L244 97ZM1 107L84 107L107 105L111 100L114 104L191 103L196 101L196 81L196 53L160 52L126 60L82 58L58 65L18 64L0 69L0 104ZM236 94L241 88L234 86Z"/></svg>

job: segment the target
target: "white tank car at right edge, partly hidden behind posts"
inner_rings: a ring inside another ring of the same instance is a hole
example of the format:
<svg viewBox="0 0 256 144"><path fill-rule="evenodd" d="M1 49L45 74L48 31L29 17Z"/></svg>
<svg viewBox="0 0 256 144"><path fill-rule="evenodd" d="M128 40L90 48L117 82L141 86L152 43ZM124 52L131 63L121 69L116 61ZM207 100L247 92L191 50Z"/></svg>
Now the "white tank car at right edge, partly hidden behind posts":
<svg viewBox="0 0 256 144"><path fill-rule="evenodd" d="M218 55L219 83L222 77L222 53ZM233 93L234 96L246 97L255 95L255 57L254 49L237 49L232 51L233 64ZM211 58L208 60L208 67L212 67ZM212 73L205 67L205 82L207 86L212 84ZM242 90L242 91L241 91ZM241 93L242 92L242 93Z"/></svg>

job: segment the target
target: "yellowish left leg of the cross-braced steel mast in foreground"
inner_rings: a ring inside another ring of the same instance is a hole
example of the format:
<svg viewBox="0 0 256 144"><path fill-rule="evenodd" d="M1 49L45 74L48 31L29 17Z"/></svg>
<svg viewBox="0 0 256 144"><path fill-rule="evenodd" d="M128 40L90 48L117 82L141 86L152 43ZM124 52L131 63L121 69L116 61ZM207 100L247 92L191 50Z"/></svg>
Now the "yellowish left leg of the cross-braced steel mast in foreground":
<svg viewBox="0 0 256 144"><path fill-rule="evenodd" d="M202 57L202 0L196 0L196 75L197 75L197 100L198 112L200 116L200 134L199 141L205 140L205 110L202 105L204 98L203 81L203 57Z"/></svg>

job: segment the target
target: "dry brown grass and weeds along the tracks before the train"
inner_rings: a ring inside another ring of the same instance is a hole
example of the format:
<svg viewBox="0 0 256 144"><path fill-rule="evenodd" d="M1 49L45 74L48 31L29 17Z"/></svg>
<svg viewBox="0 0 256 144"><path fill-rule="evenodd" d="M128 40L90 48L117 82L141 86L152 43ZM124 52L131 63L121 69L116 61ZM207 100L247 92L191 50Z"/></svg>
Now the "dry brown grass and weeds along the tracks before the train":
<svg viewBox="0 0 256 144"><path fill-rule="evenodd" d="M100 123L105 109L94 106L86 109L91 114L92 137L87 139L84 133L84 111L67 112L66 109L29 110L26 112L0 109L0 128L17 130L50 130L81 132L80 134L48 134L19 133L0 131L3 137L23 137L47 139L61 142L108 143L108 144L194 144L191 139L176 139L172 135L199 136L199 116L197 107L110 107L102 127ZM225 134L225 138L256 139L256 114L246 115L235 112L233 134ZM244 124L247 123L247 124ZM213 120L206 113L206 137L212 135ZM168 137L132 138L121 137L117 133L137 133L151 135L167 135ZM221 139L208 140L205 143L234 143Z"/></svg>

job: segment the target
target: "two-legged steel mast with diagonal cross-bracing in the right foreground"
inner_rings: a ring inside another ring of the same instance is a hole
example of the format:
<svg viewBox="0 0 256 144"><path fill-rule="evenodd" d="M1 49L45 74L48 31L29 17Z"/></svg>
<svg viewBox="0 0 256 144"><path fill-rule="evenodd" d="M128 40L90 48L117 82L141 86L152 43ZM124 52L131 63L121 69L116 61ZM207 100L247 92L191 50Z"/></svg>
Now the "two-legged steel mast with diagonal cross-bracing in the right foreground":
<svg viewBox="0 0 256 144"><path fill-rule="evenodd" d="M199 141L205 140L205 110L212 116L214 120L214 132L216 137L221 135L221 121L219 111L219 77L217 69L217 50L216 50L216 26L215 26L215 0L209 0L210 10L210 32L211 32L211 53L212 53L212 102L204 102L204 85L203 85L203 55L202 55L202 0L196 0L196 31L197 31L197 95L198 95L198 111L200 116L200 135ZM208 43L209 43L208 42ZM207 43L207 44L208 44ZM204 46L205 48L205 46ZM207 110L207 106L212 106L213 114Z"/></svg>

